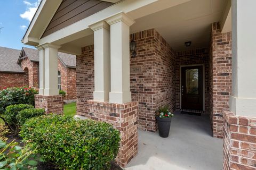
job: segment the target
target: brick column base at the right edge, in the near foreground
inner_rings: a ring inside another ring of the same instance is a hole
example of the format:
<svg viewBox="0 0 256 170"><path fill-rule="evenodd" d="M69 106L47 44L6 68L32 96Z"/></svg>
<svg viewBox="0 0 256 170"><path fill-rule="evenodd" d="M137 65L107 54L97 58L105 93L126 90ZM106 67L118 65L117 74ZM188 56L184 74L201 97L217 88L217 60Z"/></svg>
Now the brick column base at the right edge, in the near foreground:
<svg viewBox="0 0 256 170"><path fill-rule="evenodd" d="M256 118L223 111L223 169L256 169Z"/></svg>

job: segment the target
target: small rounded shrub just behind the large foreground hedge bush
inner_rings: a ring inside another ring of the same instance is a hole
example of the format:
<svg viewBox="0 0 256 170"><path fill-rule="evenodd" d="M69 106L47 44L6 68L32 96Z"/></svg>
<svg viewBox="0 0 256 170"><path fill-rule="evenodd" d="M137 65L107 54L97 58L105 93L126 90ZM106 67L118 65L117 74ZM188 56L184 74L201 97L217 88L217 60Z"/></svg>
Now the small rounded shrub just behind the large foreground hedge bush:
<svg viewBox="0 0 256 170"><path fill-rule="evenodd" d="M45 113L42 108L28 108L20 111L17 115L18 125L23 125L29 118L41 116Z"/></svg>

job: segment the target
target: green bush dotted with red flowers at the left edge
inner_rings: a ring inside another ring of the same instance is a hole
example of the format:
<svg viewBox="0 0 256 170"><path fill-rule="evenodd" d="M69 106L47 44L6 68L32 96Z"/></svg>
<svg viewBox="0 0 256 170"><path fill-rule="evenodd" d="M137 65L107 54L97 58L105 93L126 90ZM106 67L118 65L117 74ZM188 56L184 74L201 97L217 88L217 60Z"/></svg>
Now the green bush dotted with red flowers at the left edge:
<svg viewBox="0 0 256 170"><path fill-rule="evenodd" d="M33 88L6 88L0 91L0 114L5 112L5 108L10 105L28 104L35 105L34 95L38 91Z"/></svg>

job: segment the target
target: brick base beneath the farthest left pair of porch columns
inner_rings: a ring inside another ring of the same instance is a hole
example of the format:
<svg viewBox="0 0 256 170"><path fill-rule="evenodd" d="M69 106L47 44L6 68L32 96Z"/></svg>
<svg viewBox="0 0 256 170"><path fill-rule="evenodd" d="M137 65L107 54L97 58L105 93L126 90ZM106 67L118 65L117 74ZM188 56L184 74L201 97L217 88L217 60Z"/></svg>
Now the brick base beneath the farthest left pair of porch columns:
<svg viewBox="0 0 256 170"><path fill-rule="evenodd" d="M45 113L63 114L62 95L43 96L35 95L35 108L44 108Z"/></svg>

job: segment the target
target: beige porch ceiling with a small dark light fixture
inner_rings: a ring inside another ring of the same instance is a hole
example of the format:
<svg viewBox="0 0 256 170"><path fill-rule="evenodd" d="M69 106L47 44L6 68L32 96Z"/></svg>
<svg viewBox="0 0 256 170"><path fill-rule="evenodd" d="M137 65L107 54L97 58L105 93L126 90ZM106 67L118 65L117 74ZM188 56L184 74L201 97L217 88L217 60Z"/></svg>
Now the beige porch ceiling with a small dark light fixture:
<svg viewBox="0 0 256 170"><path fill-rule="evenodd" d="M135 20L131 33L155 28L174 50L209 47L211 23L220 21L227 0L191 0Z"/></svg>

